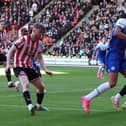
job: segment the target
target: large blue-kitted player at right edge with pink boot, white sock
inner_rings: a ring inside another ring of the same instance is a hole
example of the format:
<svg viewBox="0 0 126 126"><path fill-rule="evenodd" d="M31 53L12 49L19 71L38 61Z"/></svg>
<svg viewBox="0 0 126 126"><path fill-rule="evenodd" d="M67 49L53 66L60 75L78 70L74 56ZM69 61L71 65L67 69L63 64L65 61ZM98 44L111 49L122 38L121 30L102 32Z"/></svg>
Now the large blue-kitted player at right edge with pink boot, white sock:
<svg viewBox="0 0 126 126"><path fill-rule="evenodd" d="M126 28L126 14L123 18L117 20L109 42L109 49L106 56L106 71L108 72L109 81L102 83L89 94L82 97L84 110L89 113L90 102L103 92L113 88L117 84L118 73L121 72L126 77L126 60L124 53L126 49L126 34L123 30Z"/></svg>

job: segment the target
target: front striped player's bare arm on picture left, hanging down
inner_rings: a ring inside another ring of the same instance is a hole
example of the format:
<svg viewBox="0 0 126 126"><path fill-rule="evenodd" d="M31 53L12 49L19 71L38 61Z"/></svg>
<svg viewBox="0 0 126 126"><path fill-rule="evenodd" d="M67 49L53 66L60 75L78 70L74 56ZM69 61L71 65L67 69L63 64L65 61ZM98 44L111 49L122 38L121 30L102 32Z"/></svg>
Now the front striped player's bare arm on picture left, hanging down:
<svg viewBox="0 0 126 126"><path fill-rule="evenodd" d="M13 56L13 54L14 54L14 52L16 51L16 46L15 45L13 45L11 48L10 48L10 50L9 50L9 52L8 52L8 54L7 54L7 64L6 64L6 68L5 68L5 71L8 71L8 69L11 67L11 57Z"/></svg>

